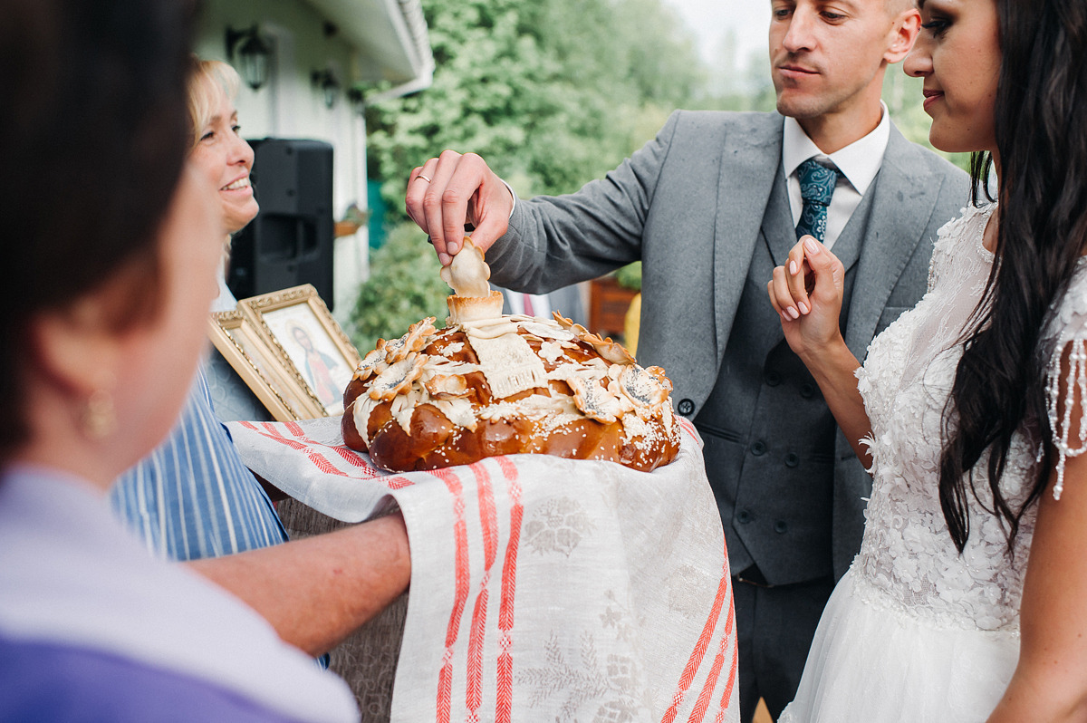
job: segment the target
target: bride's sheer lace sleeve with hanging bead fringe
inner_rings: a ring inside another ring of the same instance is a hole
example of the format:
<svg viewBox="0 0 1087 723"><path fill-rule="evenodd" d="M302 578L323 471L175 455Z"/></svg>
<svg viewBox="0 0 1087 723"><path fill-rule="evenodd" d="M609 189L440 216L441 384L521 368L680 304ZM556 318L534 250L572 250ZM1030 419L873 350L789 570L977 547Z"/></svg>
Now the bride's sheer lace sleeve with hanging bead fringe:
<svg viewBox="0 0 1087 723"><path fill-rule="evenodd" d="M1069 458L1087 451L1087 425L1073 423L1077 398L1080 411L1087 400L1087 261L1084 259L1051 314L1041 348L1049 353L1046 407L1057 449L1053 498L1061 499ZM1066 360L1066 367L1063 360Z"/></svg>

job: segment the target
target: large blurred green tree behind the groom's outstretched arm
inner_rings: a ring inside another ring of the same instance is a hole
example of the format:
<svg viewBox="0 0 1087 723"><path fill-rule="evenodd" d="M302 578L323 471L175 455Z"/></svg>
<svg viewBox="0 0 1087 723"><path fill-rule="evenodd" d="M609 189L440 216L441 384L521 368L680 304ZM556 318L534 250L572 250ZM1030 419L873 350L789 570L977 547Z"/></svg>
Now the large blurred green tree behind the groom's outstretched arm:
<svg viewBox="0 0 1087 723"><path fill-rule="evenodd" d="M703 77L660 0L423 0L430 88L367 108L370 176L403 214L411 169L483 155L518 194L561 194L652 137Z"/></svg>

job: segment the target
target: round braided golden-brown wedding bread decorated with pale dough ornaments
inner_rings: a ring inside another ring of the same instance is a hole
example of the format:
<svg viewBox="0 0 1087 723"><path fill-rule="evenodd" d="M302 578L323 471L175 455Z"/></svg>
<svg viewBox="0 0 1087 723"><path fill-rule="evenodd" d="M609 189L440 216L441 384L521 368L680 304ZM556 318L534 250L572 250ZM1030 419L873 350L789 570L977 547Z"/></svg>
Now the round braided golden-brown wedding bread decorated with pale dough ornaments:
<svg viewBox="0 0 1087 723"><path fill-rule="evenodd" d="M503 315L489 273L465 238L441 272L457 291L446 327L424 319L360 362L343 395L346 444L395 472L517 453L646 472L671 462L679 425L664 370L558 313Z"/></svg>

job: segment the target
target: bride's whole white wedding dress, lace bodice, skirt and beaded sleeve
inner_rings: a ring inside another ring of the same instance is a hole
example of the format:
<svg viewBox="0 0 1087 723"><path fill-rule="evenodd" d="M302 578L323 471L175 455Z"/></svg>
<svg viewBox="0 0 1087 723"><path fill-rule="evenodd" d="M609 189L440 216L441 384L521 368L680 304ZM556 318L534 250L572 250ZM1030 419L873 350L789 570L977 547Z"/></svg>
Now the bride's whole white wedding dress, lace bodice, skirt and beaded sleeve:
<svg viewBox="0 0 1087 723"><path fill-rule="evenodd" d="M872 423L864 539L823 613L784 722L984 721L1014 671L1037 506L1023 514L1009 551L1004 524L991 513L983 457L974 468L979 499L967 495L970 537L960 554L938 494L945 409L963 329L992 269L982 241L994 208L969 208L940 229L928 292L873 340L858 370ZM1085 447L1067 439L1057 419L1061 351L1070 344L1085 351L1085 271L1082 263L1041 345L1050 356L1048 407L1060 469ZM1084 362L1076 353L1073 362L1070 382L1082 383ZM1040 472L1039 447L1037 434L1021 432L1012 441L1000 487L1013 509Z"/></svg>

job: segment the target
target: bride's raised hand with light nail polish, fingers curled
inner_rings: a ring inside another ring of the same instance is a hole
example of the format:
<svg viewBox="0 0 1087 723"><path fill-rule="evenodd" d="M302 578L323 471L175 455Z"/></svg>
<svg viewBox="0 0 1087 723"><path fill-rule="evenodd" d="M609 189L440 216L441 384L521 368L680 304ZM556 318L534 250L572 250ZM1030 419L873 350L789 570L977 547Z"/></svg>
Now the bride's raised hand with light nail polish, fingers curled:
<svg viewBox="0 0 1087 723"><path fill-rule="evenodd" d="M841 314L846 272L838 258L811 236L803 236L789 251L784 266L774 269L766 284L770 302L782 316L782 329L798 357L819 357L841 341Z"/></svg>

